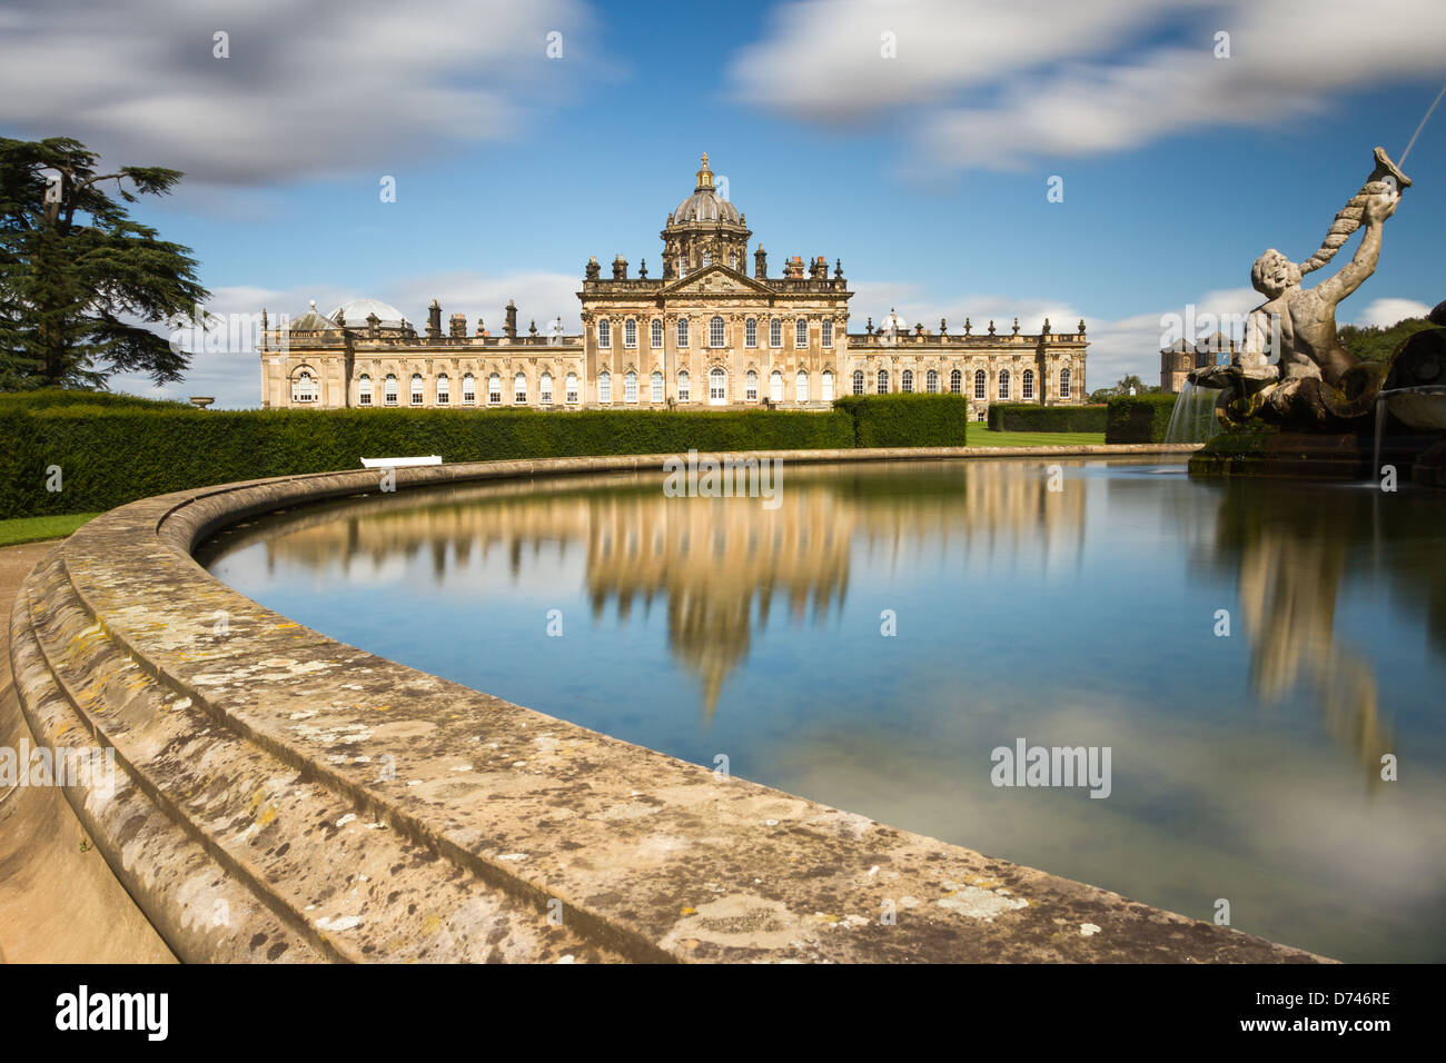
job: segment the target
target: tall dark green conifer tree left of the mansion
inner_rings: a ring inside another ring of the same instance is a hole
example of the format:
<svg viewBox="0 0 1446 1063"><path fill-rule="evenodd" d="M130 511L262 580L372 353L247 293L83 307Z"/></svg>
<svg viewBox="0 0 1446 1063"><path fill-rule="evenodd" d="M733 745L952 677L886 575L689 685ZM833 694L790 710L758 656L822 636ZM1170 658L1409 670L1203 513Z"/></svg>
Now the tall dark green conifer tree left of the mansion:
<svg viewBox="0 0 1446 1063"><path fill-rule="evenodd" d="M187 369L147 325L191 318L210 294L191 249L126 210L182 174L97 162L69 137L0 137L0 389L104 388L119 372L171 383Z"/></svg>

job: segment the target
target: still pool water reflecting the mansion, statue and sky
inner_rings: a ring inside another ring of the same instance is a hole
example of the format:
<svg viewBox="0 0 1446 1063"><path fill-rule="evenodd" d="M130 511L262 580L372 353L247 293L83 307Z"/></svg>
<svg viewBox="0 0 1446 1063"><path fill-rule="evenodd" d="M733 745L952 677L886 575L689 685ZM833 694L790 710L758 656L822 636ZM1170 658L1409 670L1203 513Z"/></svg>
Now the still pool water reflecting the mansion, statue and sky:
<svg viewBox="0 0 1446 1063"><path fill-rule="evenodd" d="M1338 959L1446 960L1442 495L1128 460L662 484L373 495L201 561L687 761ZM996 787L1019 739L1109 748L1109 795Z"/></svg>

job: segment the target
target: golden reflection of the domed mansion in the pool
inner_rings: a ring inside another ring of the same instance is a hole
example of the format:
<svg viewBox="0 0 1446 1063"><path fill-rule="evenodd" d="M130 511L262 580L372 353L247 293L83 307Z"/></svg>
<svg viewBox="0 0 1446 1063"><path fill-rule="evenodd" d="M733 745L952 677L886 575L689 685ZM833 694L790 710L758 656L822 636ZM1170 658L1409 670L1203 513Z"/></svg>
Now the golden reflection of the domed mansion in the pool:
<svg viewBox="0 0 1446 1063"><path fill-rule="evenodd" d="M698 677L711 709L748 657L755 625L766 626L779 609L795 623L836 615L852 561L886 571L908 550L982 551L1024 565L1076 557L1084 492L1050 492L1044 476L986 463L937 493L876 490L911 471L873 466L852 482L856 490L843 490L791 466L772 511L748 498L665 498L655 486L554 493L495 484L428 492L411 505L402 496L383 508L367 498L289 518L266 548L273 561L337 564L348 574L429 551L444 581L497 551L513 571L557 567L576 544L594 616L612 606L628 620L667 599L674 658Z"/></svg>

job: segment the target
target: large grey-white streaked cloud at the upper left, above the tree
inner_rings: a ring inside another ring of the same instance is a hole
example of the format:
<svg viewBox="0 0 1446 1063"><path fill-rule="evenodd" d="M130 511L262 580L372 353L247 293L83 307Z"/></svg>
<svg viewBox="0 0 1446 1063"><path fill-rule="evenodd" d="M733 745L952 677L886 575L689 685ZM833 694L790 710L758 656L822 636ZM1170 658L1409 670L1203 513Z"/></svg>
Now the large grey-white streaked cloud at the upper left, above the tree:
<svg viewBox="0 0 1446 1063"><path fill-rule="evenodd" d="M600 62L583 0L19 0L0 123L250 185L522 135ZM562 58L545 55L561 32ZM230 58L213 55L226 32Z"/></svg>

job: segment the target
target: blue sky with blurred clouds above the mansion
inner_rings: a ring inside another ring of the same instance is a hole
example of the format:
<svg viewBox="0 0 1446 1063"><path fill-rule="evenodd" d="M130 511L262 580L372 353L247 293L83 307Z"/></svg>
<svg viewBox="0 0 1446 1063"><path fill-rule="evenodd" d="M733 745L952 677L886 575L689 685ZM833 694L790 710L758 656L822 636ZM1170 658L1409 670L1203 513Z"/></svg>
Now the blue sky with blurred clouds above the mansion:
<svg viewBox="0 0 1446 1063"><path fill-rule="evenodd" d="M570 331L590 255L658 273L707 150L775 270L843 260L850 328L1083 317L1102 386L1157 379L1163 314L1255 305L1267 246L1319 246L1446 84L1443 40L1437 0L7 0L0 133L185 169L136 214L195 250L218 312L372 296L419 323L437 296L492 325L516 298ZM1404 169L1342 323L1446 298L1446 104ZM253 351L194 370L166 393L259 402Z"/></svg>

